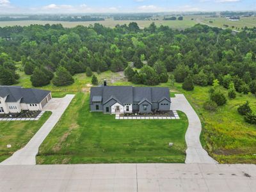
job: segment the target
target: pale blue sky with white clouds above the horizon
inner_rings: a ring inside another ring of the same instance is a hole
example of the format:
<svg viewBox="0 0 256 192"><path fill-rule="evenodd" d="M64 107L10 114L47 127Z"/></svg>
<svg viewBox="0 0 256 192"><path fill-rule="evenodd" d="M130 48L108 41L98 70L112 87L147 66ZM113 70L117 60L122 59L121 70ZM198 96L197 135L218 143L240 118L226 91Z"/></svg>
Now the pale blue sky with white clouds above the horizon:
<svg viewBox="0 0 256 192"><path fill-rule="evenodd" d="M256 0L0 0L0 13L120 13L256 10Z"/></svg>

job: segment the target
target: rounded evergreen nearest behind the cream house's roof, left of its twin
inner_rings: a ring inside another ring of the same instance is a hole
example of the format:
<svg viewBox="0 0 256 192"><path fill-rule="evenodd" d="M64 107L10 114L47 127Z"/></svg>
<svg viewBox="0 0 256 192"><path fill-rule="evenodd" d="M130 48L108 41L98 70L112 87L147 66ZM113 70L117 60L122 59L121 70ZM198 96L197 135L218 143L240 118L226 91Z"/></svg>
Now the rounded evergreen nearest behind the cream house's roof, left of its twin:
<svg viewBox="0 0 256 192"><path fill-rule="evenodd" d="M33 86L45 86L50 83L49 77L40 68L35 68L30 81Z"/></svg>

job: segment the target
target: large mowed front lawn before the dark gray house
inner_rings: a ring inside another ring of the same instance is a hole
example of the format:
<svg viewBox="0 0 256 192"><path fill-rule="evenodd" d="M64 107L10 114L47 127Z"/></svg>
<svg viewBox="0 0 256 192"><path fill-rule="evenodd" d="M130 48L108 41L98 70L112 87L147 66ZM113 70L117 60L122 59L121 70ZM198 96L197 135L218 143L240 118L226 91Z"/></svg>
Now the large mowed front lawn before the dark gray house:
<svg viewBox="0 0 256 192"><path fill-rule="evenodd" d="M180 120L115 120L89 110L89 94L77 93L42 143L38 164L184 163L184 113Z"/></svg>

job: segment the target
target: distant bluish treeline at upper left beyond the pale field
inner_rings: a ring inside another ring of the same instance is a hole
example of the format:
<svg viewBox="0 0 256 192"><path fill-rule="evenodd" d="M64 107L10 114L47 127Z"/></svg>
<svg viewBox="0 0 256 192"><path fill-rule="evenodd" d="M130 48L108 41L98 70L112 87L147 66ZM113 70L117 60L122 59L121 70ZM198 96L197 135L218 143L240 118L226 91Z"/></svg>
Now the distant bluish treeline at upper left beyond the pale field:
<svg viewBox="0 0 256 192"><path fill-rule="evenodd" d="M105 20L102 17L86 16L61 16L61 15L29 15L26 17L0 17L0 21L13 21L13 20L51 20L51 21L99 21Z"/></svg>

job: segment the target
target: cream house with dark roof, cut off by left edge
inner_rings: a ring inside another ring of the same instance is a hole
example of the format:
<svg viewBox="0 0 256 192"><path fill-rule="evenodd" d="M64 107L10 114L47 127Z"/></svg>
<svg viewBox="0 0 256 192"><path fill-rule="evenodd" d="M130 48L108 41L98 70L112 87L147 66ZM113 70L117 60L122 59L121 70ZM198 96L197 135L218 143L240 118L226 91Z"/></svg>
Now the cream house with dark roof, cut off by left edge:
<svg viewBox="0 0 256 192"><path fill-rule="evenodd" d="M51 92L20 86L0 86L0 114L22 110L41 111L52 99Z"/></svg>

